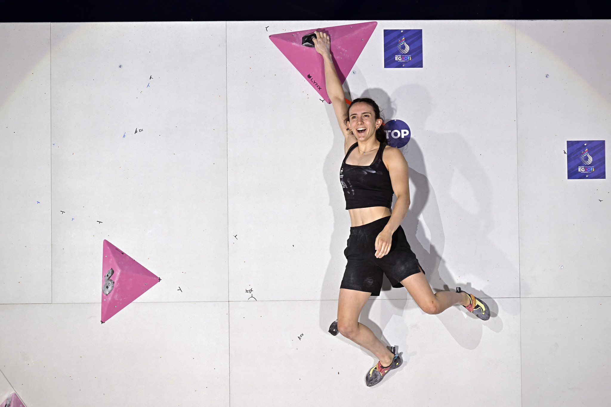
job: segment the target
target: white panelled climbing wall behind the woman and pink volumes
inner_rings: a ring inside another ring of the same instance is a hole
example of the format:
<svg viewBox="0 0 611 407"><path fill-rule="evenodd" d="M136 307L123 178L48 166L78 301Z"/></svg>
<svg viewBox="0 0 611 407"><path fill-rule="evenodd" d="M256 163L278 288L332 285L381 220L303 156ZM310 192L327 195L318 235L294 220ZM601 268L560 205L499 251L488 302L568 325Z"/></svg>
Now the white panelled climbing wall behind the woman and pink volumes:
<svg viewBox="0 0 611 407"><path fill-rule="evenodd" d="M492 318L386 286L361 322L405 362L373 388L327 333L343 138L268 38L348 23L0 24L0 402L604 405L611 189L564 151L609 134L611 23L378 21L348 97L409 124L409 243ZM104 239L162 281L102 325Z"/></svg>

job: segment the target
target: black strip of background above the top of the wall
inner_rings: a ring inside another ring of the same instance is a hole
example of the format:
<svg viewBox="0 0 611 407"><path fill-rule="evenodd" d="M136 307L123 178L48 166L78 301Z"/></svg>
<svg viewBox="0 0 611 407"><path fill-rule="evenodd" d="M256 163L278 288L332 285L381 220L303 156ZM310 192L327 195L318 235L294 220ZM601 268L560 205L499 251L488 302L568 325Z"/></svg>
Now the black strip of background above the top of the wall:
<svg viewBox="0 0 611 407"><path fill-rule="evenodd" d="M1 22L273 20L555 20L611 18L594 0L0 0Z"/></svg>

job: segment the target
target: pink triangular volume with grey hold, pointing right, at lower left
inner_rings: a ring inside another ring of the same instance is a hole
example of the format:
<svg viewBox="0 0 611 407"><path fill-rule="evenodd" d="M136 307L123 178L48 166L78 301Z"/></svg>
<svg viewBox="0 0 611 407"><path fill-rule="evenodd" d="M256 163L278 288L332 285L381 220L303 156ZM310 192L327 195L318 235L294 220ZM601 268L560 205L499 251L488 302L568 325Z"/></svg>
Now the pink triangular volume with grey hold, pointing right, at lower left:
<svg viewBox="0 0 611 407"><path fill-rule="evenodd" d="M102 250L102 319L104 323L161 279L108 240Z"/></svg>

